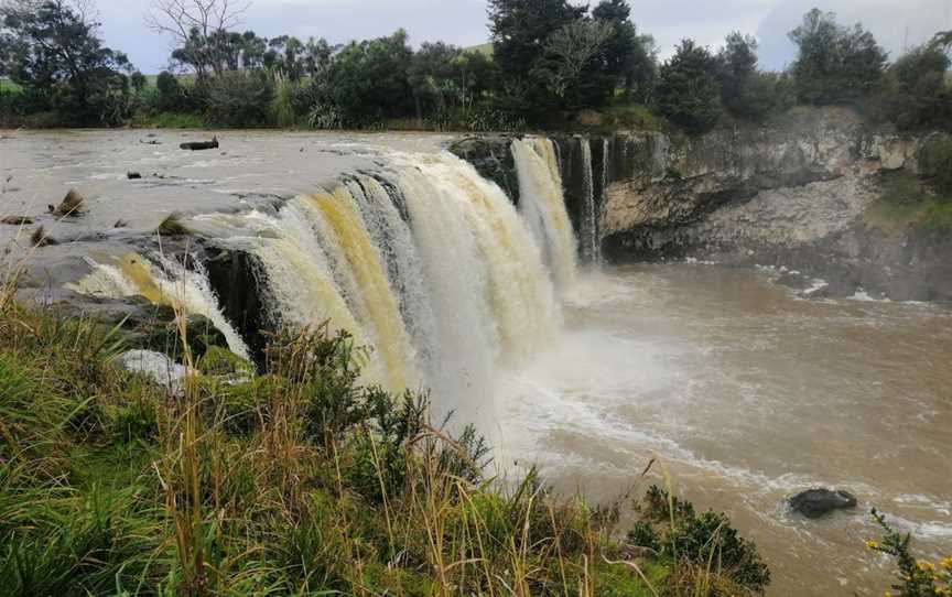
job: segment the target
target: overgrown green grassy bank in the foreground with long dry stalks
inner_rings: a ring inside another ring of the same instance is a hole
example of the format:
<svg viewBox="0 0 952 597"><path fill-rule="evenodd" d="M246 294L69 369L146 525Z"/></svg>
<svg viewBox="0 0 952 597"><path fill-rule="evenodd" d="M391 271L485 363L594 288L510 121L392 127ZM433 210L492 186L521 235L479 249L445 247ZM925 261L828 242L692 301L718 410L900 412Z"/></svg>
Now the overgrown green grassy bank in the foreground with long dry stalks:
<svg viewBox="0 0 952 597"><path fill-rule="evenodd" d="M629 503L556 500L534 473L487 479L472 428L450 437L426 397L364 384L368 355L326 327L273 337L256 373L193 341L180 313L161 324L192 372L175 391L117 366L141 340L128 324L25 308L12 289L0 293L3 595L620 597L766 583L749 582L753 545L732 560L721 519L656 515L628 535L652 542L638 545L618 528Z"/></svg>

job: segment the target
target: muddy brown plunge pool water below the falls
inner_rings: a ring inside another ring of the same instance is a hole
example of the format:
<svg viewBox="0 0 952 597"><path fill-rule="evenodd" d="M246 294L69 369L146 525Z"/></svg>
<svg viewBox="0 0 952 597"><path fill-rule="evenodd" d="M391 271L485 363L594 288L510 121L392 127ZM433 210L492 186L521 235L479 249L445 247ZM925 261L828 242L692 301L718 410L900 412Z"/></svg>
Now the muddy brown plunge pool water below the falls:
<svg viewBox="0 0 952 597"><path fill-rule="evenodd" d="M566 318L500 391L507 458L612 500L657 456L653 482L667 468L757 542L770 595L881 595L873 507L923 556L952 549L946 307L808 301L765 272L670 264L582 276ZM792 513L785 498L813 486L859 508Z"/></svg>

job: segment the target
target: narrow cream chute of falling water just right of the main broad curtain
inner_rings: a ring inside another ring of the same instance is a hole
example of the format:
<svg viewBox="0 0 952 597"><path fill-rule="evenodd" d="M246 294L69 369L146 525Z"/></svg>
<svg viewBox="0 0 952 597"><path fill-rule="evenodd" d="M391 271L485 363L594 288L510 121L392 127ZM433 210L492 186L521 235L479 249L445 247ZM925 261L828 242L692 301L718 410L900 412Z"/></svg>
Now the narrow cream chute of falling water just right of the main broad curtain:
<svg viewBox="0 0 952 597"><path fill-rule="evenodd" d="M517 140L512 142L512 155L519 175L522 215L556 283L567 286L575 279L577 246L565 208L554 145L549 139Z"/></svg>

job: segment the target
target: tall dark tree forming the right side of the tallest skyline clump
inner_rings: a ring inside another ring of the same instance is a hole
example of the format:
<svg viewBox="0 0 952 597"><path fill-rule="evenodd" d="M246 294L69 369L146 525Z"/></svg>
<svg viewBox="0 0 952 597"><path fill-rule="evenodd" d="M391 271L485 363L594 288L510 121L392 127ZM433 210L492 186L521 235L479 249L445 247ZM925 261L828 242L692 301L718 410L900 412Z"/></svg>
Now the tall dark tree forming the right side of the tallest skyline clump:
<svg viewBox="0 0 952 597"><path fill-rule="evenodd" d="M601 93L603 99L612 99L620 83L628 99L647 104L658 70L654 39L639 35L630 15L627 0L602 0L592 10L593 19L613 28L613 35L603 46L605 77Z"/></svg>

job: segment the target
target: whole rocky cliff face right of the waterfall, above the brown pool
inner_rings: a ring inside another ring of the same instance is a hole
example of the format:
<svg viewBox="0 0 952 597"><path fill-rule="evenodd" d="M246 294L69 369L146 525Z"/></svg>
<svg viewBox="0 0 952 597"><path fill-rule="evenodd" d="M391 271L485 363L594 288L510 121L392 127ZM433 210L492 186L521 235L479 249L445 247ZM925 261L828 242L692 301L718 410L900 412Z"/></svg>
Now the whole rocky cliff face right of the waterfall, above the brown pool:
<svg viewBox="0 0 952 597"><path fill-rule="evenodd" d="M701 138L553 140L583 259L786 267L825 280L831 295L952 300L952 232L866 217L884 174L916 172L920 140L870 130L850 110L799 109L769 127ZM510 141L483 138L469 144L478 151L458 153L508 181L500 158ZM595 230L581 217L593 203Z"/></svg>

